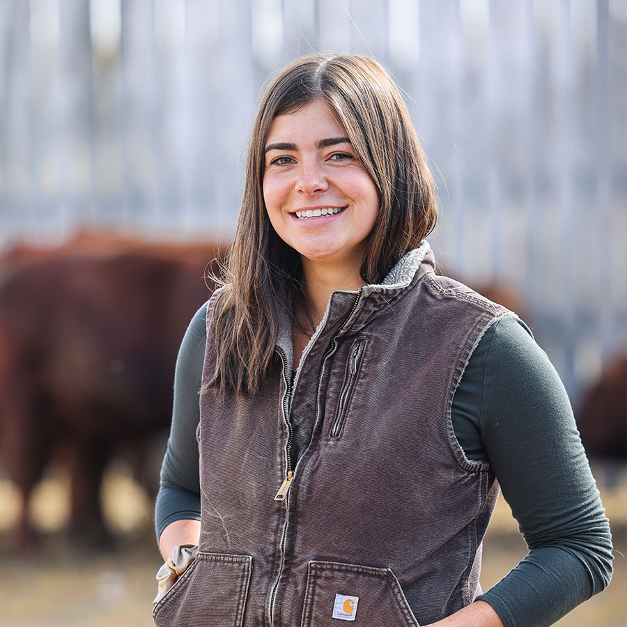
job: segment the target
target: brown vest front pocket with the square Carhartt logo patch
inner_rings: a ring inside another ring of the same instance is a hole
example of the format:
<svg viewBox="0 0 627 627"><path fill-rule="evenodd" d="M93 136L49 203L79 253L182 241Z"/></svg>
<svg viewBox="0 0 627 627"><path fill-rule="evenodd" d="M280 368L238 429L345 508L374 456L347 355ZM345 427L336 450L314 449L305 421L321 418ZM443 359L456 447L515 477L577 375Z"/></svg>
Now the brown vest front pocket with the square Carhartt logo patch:
<svg viewBox="0 0 627 627"><path fill-rule="evenodd" d="M419 627L389 568L309 562L301 627Z"/></svg>

